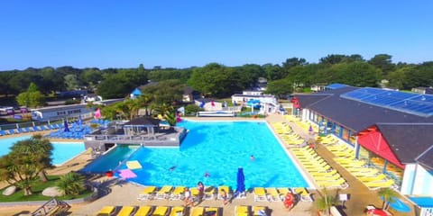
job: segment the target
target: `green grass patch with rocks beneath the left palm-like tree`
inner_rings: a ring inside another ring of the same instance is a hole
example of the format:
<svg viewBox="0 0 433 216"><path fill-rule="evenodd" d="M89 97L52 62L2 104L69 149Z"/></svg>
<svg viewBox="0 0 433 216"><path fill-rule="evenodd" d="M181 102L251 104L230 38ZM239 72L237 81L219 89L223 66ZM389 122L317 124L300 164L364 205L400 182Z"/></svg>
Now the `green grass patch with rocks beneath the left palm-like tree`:
<svg viewBox="0 0 433 216"><path fill-rule="evenodd" d="M49 201L51 197L42 195L43 189L47 187L54 186L56 181L60 179L59 175L50 175L48 176L48 182L42 183L41 181L37 181L32 185L32 195L24 196L23 190L17 190L14 194L10 196L5 196L3 191L6 188L0 190L0 202L25 202L25 201ZM80 195L64 195L58 197L60 200L71 200L77 198L87 197L91 194L91 191L86 191Z"/></svg>

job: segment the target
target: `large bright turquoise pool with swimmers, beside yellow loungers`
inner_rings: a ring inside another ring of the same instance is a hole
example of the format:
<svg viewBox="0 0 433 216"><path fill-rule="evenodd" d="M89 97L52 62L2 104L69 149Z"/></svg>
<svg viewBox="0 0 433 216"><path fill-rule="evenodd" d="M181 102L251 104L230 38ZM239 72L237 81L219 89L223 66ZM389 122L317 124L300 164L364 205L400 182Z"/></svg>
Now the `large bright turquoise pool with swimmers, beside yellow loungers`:
<svg viewBox="0 0 433 216"><path fill-rule="evenodd" d="M237 168L242 166L247 188L309 186L264 121L182 121L178 126L189 130L180 148L138 148L131 154L128 160L138 160L143 168L133 170L138 177L130 181L157 186L195 186L202 181L235 187ZM115 151L104 160L118 161Z"/></svg>

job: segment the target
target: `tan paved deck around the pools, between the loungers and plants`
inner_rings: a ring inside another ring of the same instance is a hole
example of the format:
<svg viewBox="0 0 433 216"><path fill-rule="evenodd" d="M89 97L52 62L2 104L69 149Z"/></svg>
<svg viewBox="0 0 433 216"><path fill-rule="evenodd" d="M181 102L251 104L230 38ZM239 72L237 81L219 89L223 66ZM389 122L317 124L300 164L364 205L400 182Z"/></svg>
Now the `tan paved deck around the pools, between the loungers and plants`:
<svg viewBox="0 0 433 216"><path fill-rule="evenodd" d="M256 121L254 119L239 119L239 118L191 118L200 121L215 121L215 120L226 120L226 121ZM270 124L272 122L284 121L290 125L290 127L295 130L304 139L312 139L313 137L309 135L308 131L302 130L295 122L290 122L285 120L281 115L272 114L265 119ZM279 138L280 139L280 138ZM56 139L56 141L62 141L64 139ZM75 139L77 141L77 139ZM282 143L284 141L280 139ZM65 140L70 141L70 140ZM290 151L290 146L285 144L285 148ZM345 190L330 189L327 190L330 194L345 193L349 194L349 200L345 202L345 208L341 208L341 203L339 203L339 208L342 210L342 215L365 215L364 208L368 204L373 204L377 207L382 206L382 200L376 195L376 191L368 189L364 184L359 182L353 175L349 174L345 168L336 164L333 160L334 155L327 150L327 148L318 145L317 146L318 155L323 157L327 163L334 167L340 175L342 175L347 183L350 185ZM78 171L80 168L86 166L90 162L91 155L89 151L75 157L69 162L62 166L58 166L55 169L49 171L50 174L63 175L69 173L70 171ZM139 201L137 200L138 194L143 190L143 186L131 184L124 182L116 178L109 178L106 176L95 177L92 181L100 185L100 188L105 192L100 198L94 202L77 203L71 204L72 208L69 210L68 215L96 215L105 205L166 205L175 206L181 205L181 201L168 201L168 200L151 200L151 201ZM2 184L0 186L5 186ZM320 191L312 190L313 198L318 198ZM313 202L298 202L294 208L290 211L285 210L282 202L254 202L253 194L247 193L246 199L235 199L233 202L227 204L223 207L220 201L209 200L198 204L199 206L212 206L212 207L222 207L223 215L234 215L236 205L251 205L251 206L268 206L272 210L272 215L318 215L317 210L314 207ZM2 206L0 207L0 215L18 215L22 212L32 212L36 210L39 205L21 205L21 206ZM393 215L396 216L409 216L415 215L413 211L413 206L410 206L412 211L409 213L400 213L392 211Z"/></svg>

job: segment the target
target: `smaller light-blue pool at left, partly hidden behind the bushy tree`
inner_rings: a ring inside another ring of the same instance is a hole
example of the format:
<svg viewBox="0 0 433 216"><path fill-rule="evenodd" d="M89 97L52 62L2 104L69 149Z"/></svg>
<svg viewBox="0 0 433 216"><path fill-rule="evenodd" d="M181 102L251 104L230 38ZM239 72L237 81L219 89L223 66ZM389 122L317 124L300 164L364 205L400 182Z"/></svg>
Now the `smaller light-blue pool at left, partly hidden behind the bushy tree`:
<svg viewBox="0 0 433 216"><path fill-rule="evenodd" d="M0 157L9 153L9 148L12 147L15 142L29 138L31 138L31 136L0 139ZM53 165L61 165L69 159L78 156L78 154L85 150L83 142L51 142L51 144L54 148L52 150Z"/></svg>

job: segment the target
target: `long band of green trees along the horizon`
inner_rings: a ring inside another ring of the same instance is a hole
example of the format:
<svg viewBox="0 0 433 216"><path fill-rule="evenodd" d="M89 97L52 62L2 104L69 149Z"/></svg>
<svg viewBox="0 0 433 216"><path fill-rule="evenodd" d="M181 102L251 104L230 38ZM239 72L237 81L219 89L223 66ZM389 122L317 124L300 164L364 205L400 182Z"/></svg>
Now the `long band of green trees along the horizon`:
<svg viewBox="0 0 433 216"><path fill-rule="evenodd" d="M198 92L222 98L252 88L259 77L268 80L270 94L284 95L301 91L311 85L342 83L354 86L379 86L410 90L412 87L433 85L433 61L419 64L393 63L392 56L378 54L364 59L361 55L331 54L309 63L305 58L287 58L281 64L245 64L226 67L209 63L204 67L134 68L97 67L29 67L24 70L0 72L0 94L11 96L27 91L33 83L41 94L88 89L104 99L120 98L149 80L161 82L176 79ZM386 80L387 82L382 82Z"/></svg>

